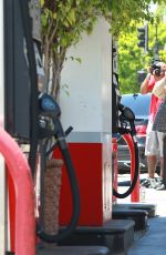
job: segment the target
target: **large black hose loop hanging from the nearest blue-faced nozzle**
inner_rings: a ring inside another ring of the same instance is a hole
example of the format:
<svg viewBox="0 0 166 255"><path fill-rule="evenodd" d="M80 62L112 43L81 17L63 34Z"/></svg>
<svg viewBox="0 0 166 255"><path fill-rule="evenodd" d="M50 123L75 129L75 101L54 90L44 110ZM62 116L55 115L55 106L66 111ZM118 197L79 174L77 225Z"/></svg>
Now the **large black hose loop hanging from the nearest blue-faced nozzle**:
<svg viewBox="0 0 166 255"><path fill-rule="evenodd" d="M50 235L45 233L42 227L42 223L37 225L38 236L48 243L59 243L68 238L75 230L77 225L79 216L80 216L80 192L79 192L74 166L71 160L71 155L69 153L68 144L65 142L65 134L63 133L63 130L62 130L62 126L59 120L56 120L55 125L59 126L55 137L58 140L58 145L61 150L61 153L62 153L62 156L63 156L66 170L68 170L68 176L69 176L69 181L71 185L71 192L72 192L72 197L73 197L73 215L66 228L56 235Z"/></svg>

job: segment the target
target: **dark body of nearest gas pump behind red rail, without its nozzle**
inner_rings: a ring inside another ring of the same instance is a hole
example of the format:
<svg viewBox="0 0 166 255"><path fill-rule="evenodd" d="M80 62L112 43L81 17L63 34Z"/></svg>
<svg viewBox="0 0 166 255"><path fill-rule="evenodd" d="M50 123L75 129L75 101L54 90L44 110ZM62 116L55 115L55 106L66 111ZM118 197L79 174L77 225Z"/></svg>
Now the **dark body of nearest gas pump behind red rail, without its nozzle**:
<svg viewBox="0 0 166 255"><path fill-rule="evenodd" d="M29 163L34 173L38 141L38 76L34 44L38 45L39 6L35 10L35 29L32 40L28 2L3 1L4 10L4 129L29 153ZM34 8L35 6L35 8ZM34 28L34 26L33 26ZM10 248L14 251L15 197L10 174Z"/></svg>

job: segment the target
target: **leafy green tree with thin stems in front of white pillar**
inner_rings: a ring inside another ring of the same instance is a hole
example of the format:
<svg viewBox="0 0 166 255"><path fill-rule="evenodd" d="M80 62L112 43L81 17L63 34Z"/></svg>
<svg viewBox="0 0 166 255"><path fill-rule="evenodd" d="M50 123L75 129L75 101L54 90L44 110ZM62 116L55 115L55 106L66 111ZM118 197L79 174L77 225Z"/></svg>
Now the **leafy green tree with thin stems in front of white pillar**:
<svg viewBox="0 0 166 255"><path fill-rule="evenodd" d="M154 2L166 0L154 0ZM113 35L132 29L131 21L133 24L144 19L153 21L151 0L40 0L40 2L44 70L54 96L60 89L60 74L66 50L77 43L84 32L90 34L100 17L110 22ZM134 54L139 55L138 50Z"/></svg>

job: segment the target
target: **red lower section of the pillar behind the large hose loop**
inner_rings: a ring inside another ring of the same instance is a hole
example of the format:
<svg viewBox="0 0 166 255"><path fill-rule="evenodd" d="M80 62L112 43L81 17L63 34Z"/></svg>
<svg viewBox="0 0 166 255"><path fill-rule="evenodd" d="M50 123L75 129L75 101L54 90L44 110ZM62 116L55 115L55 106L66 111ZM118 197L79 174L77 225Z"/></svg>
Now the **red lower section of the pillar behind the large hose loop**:
<svg viewBox="0 0 166 255"><path fill-rule="evenodd" d="M79 225L100 226L111 220L111 164L103 156L101 143L70 143L70 154L76 173L81 196ZM61 154L58 150L55 157ZM60 225L68 225L72 216L72 196L65 166L62 170Z"/></svg>

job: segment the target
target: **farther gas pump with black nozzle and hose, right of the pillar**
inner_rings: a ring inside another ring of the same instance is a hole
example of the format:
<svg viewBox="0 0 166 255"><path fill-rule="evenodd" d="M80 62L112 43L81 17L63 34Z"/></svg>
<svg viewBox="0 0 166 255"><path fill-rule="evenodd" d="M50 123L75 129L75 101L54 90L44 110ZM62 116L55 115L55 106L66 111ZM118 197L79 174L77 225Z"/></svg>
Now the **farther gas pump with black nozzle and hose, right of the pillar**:
<svg viewBox="0 0 166 255"><path fill-rule="evenodd" d="M117 136L123 135L126 144L129 147L131 152L131 186L124 193L120 194L117 192L117 176L114 176L114 186L113 186L113 200L115 197L125 198L126 196L131 195L134 191L135 186L137 185L138 173L139 173L139 160L138 160L138 147L136 142L136 131L135 131L135 115L131 109L125 108L121 104L121 93L118 88L118 73L117 73L117 41L113 41L113 59L112 59L112 69L113 69L113 79L112 79L112 131L113 131L113 144L117 143ZM129 128L128 128L129 126ZM117 145L116 145L117 147ZM117 153L116 153L117 154ZM116 161L116 160L114 160ZM117 163L114 164L114 167L117 167ZM118 173L117 169L114 169L115 173ZM139 187L138 187L139 188ZM138 202L138 201L137 201Z"/></svg>

